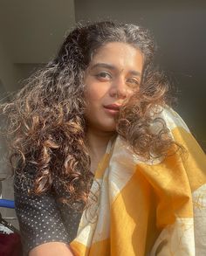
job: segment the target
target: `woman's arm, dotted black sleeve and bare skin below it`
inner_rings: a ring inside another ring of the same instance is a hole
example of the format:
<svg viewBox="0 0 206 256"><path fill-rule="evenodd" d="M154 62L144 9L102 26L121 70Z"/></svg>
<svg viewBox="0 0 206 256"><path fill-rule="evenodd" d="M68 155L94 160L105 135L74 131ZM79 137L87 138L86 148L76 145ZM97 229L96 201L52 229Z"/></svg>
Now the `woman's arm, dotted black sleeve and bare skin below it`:
<svg viewBox="0 0 206 256"><path fill-rule="evenodd" d="M29 195L34 180L32 168L24 175L15 174L15 209L21 239L26 255L72 255L72 240L62 219L55 197L47 192L41 196ZM72 218L66 211L67 218ZM72 222L72 219L71 219ZM73 226L69 229L72 230Z"/></svg>

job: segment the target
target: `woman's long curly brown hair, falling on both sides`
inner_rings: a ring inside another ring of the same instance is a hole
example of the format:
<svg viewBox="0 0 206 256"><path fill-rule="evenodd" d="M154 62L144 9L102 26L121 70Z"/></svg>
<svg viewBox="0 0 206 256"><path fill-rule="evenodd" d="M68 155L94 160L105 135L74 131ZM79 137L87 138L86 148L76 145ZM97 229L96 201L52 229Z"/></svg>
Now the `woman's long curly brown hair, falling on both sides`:
<svg viewBox="0 0 206 256"><path fill-rule="evenodd" d="M3 133L10 140L10 162L14 170L23 170L27 163L36 167L35 194L51 190L58 176L70 194L69 203L86 204L93 175L86 147L83 78L95 51L108 42L133 45L144 56L140 91L120 110L117 133L145 159L165 156L173 143L164 121L158 134L150 129L157 121L151 112L165 105L168 82L154 70L155 46L149 32L112 21L78 24L57 56L0 107L6 120Z"/></svg>

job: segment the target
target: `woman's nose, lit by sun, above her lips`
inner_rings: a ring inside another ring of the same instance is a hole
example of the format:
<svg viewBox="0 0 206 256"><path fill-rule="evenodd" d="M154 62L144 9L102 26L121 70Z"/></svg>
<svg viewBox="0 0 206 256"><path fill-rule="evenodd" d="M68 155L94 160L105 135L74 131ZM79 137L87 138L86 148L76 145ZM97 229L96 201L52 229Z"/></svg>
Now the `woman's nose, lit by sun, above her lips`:
<svg viewBox="0 0 206 256"><path fill-rule="evenodd" d="M125 81L122 78L117 78L113 80L113 85L110 89L111 97L115 97L118 99L126 99L128 90Z"/></svg>

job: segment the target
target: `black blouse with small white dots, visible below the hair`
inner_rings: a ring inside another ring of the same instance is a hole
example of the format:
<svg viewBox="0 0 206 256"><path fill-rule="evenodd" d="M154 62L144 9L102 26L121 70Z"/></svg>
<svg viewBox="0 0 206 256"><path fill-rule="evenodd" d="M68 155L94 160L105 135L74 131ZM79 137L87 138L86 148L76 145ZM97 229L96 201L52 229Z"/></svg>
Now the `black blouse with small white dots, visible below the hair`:
<svg viewBox="0 0 206 256"><path fill-rule="evenodd" d="M24 253L47 242L71 242L81 218L81 212L58 202L57 197L65 196L58 179L54 183L56 197L52 193L29 195L34 175L35 170L30 165L23 173L16 173L14 179L15 208Z"/></svg>

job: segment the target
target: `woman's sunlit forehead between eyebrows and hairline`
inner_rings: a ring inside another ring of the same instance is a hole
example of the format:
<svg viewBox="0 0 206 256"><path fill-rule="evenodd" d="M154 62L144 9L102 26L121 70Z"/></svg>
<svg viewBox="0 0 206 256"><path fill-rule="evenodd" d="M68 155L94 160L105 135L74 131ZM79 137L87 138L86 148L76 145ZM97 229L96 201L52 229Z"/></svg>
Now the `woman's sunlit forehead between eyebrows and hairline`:
<svg viewBox="0 0 206 256"><path fill-rule="evenodd" d="M111 42L101 46L94 54L89 66L103 62L117 68L131 68L143 66L143 54L133 45Z"/></svg>

